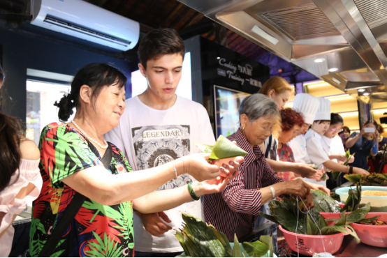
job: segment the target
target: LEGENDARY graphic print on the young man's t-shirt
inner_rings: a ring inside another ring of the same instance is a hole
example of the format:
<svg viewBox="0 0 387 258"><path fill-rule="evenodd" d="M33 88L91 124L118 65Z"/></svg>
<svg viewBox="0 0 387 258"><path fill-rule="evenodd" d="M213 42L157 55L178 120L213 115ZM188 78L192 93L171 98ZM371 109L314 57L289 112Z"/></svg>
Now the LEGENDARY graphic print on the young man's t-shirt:
<svg viewBox="0 0 387 258"><path fill-rule="evenodd" d="M191 153L190 126L143 126L132 129L139 170L159 167ZM159 190L179 188L192 182L188 174L177 177Z"/></svg>

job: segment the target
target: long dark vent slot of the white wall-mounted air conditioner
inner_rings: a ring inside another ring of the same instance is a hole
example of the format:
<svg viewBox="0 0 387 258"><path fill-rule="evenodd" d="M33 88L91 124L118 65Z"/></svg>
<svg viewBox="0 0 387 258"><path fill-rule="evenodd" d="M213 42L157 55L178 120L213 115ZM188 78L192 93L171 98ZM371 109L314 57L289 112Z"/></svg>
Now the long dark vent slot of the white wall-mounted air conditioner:
<svg viewBox="0 0 387 258"><path fill-rule="evenodd" d="M93 36L93 37L96 37L96 38L101 38L103 40L108 40L108 41L110 41L112 43L116 43L116 44L122 45L124 47L128 47L129 45L131 45L130 41L122 40L121 38L115 38L115 37L109 36L107 34L100 33L98 31L93 31L92 29L87 29L87 28L85 28L83 26L80 26L80 25L77 25L77 24L73 24L71 22L66 22L64 20L59 20L56 17L47 16L47 17L45 17L44 22L48 23L48 24L53 24L53 25L56 25L56 26L61 26L61 27L64 27L66 29L71 29L72 31L78 31L78 32L81 32L81 33L85 33L85 34L87 34L89 36Z"/></svg>

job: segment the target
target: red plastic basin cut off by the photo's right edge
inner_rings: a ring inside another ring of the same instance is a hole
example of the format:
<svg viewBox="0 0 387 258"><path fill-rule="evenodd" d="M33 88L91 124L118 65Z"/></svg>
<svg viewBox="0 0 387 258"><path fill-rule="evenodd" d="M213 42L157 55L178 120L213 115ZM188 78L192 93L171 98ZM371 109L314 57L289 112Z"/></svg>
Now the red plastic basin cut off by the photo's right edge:
<svg viewBox="0 0 387 258"><path fill-rule="evenodd" d="M379 216L378 220L387 221L387 213L368 213L365 218ZM387 248L387 226L368 226L360 224L351 224L358 234L360 240L366 245L372 245L377 248Z"/></svg>

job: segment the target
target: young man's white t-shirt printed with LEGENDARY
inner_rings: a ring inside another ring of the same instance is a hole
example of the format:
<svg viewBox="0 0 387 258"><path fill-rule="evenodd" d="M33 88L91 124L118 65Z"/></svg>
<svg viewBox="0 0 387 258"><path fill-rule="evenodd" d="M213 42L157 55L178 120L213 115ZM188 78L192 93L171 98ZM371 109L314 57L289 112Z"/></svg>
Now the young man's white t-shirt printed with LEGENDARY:
<svg viewBox="0 0 387 258"><path fill-rule="evenodd" d="M184 155L200 153L194 142L214 145L215 138L207 110L200 104L177 96L168 110L148 107L138 97L126 100L119 126L107 135L109 142L121 149L133 170L143 170L166 164ZM179 188L194 179L185 174L158 190ZM204 218L201 202L188 202L166 215L173 229L182 228L182 212ZM138 252L183 252L175 230L161 236L149 234L143 222L134 214L134 235Z"/></svg>

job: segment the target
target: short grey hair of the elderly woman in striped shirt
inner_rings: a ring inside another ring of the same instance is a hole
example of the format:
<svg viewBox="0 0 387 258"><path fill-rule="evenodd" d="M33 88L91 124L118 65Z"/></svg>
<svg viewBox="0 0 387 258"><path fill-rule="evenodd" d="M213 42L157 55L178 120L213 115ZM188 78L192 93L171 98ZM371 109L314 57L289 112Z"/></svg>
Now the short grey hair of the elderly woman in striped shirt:
<svg viewBox="0 0 387 258"><path fill-rule="evenodd" d="M277 103L263 94L254 94L242 101L239 107L239 119L245 114L250 123L261 117L278 117L280 115Z"/></svg>

